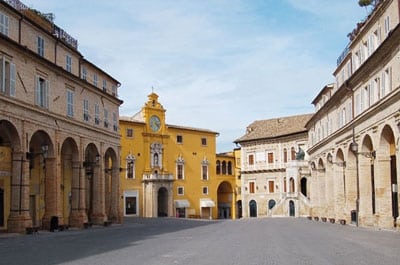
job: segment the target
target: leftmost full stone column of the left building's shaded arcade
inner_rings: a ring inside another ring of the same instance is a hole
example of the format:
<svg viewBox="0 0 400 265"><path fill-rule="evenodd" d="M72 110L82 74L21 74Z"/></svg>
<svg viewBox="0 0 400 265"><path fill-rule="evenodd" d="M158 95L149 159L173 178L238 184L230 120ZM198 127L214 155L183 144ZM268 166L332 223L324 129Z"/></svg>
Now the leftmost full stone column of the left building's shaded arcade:
<svg viewBox="0 0 400 265"><path fill-rule="evenodd" d="M22 233L32 226L29 213L29 160L25 153L12 154L11 167L11 209L8 217L8 231Z"/></svg>

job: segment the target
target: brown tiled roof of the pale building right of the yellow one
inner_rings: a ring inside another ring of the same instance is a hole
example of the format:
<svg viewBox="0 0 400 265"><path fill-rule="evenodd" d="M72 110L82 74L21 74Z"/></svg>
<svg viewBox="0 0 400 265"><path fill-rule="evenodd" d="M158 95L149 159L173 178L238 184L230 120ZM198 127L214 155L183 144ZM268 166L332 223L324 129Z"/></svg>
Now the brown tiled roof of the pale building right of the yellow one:
<svg viewBox="0 0 400 265"><path fill-rule="evenodd" d="M247 126L246 134L235 140L235 143L276 138L306 132L307 129L305 128L305 125L312 116L313 114L302 114L254 121Z"/></svg>

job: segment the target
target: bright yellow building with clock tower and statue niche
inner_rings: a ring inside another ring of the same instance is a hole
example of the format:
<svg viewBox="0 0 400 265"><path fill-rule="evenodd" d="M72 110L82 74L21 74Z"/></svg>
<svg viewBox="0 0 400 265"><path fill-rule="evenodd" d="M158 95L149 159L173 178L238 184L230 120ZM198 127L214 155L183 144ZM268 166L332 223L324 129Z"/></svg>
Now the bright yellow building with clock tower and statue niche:
<svg viewBox="0 0 400 265"><path fill-rule="evenodd" d="M165 112L152 93L139 113L120 118L124 216L230 218L235 177L217 174L218 133L166 124Z"/></svg>

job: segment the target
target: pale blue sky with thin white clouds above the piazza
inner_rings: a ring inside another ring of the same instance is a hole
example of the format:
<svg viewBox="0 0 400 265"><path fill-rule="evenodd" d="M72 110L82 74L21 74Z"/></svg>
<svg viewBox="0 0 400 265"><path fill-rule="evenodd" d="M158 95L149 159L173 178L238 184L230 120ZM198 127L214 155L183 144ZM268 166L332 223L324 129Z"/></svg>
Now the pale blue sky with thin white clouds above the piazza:
<svg viewBox="0 0 400 265"><path fill-rule="evenodd" d="M79 51L122 83L120 115L151 93L167 123L220 133L217 151L254 120L313 112L334 81L357 0L24 0L78 39Z"/></svg>

